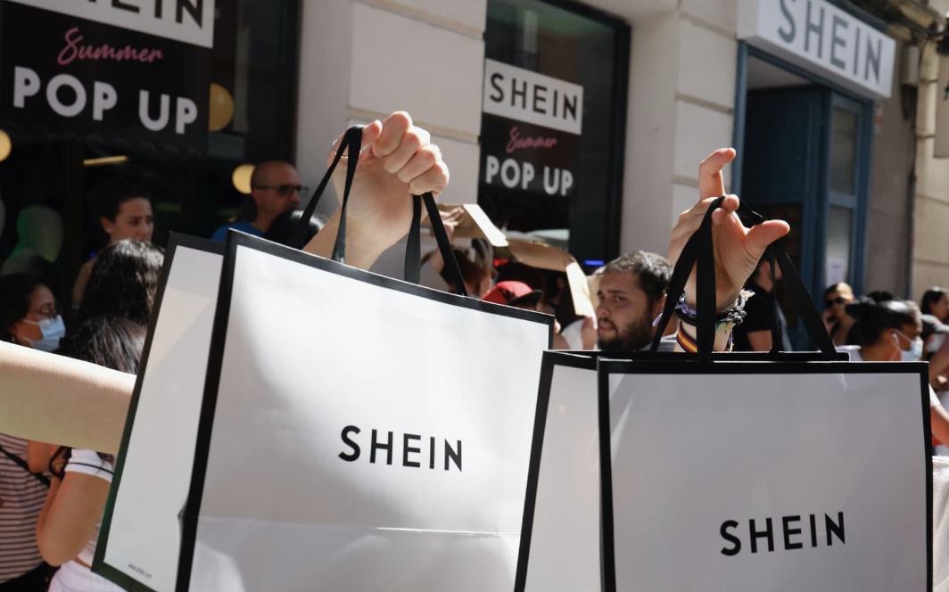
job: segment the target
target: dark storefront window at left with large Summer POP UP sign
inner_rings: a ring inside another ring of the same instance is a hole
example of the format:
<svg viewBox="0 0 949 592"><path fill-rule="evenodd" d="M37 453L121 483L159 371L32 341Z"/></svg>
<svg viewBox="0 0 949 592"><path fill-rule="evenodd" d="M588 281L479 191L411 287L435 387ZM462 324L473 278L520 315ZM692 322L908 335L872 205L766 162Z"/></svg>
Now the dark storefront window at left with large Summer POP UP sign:
<svg viewBox="0 0 949 592"><path fill-rule="evenodd" d="M151 195L161 245L170 231L210 236L237 213L238 165L292 158L298 0L0 10L0 129L12 143L0 162L0 262L25 241L57 247L45 271L64 301L105 244L91 194L106 179ZM46 222L25 224L36 208Z"/></svg>

